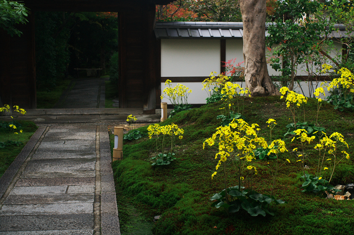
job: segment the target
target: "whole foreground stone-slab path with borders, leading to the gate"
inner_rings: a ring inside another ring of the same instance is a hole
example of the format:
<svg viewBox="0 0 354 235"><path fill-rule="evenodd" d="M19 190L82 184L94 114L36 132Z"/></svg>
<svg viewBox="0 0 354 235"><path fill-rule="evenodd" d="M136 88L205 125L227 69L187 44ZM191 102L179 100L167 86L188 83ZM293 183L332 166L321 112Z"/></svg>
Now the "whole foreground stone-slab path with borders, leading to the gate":
<svg viewBox="0 0 354 235"><path fill-rule="evenodd" d="M107 125L43 124L0 179L0 234L120 234Z"/></svg>

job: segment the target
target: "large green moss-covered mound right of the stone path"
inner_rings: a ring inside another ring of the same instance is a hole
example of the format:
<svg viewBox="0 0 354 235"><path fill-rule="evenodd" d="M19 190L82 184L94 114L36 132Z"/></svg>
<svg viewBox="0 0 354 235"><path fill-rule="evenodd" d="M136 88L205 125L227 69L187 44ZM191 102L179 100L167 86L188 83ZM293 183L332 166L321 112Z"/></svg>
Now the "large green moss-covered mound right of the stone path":
<svg viewBox="0 0 354 235"><path fill-rule="evenodd" d="M237 101L234 103L237 104ZM354 200L327 200L301 192L302 168L296 162L297 153L292 151L298 145L291 142L293 136L284 137L291 114L280 97L246 98L242 114L246 122L260 126L259 134L267 140L270 134L265 122L269 118L277 120L272 139L282 138L285 141L289 152L282 157L288 158L291 163L280 169L274 196L287 204L271 206L275 215L265 217L252 217L242 209L229 216L224 209L211 207L210 197L223 190L224 177L219 172L211 179L217 164L214 159L216 151L212 148L203 150L202 145L219 126L220 120L216 116L222 114L222 107L222 103L205 105L179 113L161 123L167 125L173 122L185 130L183 139L176 142L177 159L168 166L151 166L150 159L157 154L155 139L145 135L141 139L124 142L123 160L112 164L123 235L132 234L129 226L140 226L142 221L152 225L153 234L352 234ZM308 99L305 120L316 120L316 114L317 100ZM303 121L303 114L299 118ZM328 135L336 131L342 133L349 145L347 152L351 158L344 159L338 165L331 184L354 183L354 114L339 112L323 102L319 125L327 129ZM139 130L148 132L147 126ZM112 136L110 139L112 142ZM309 167L306 171L314 174L318 155L313 147L307 145L304 163ZM270 194L273 178L267 161L256 160L252 165L258 170L253 189ZM227 179L230 186L236 185L234 173L231 170ZM328 174L324 177L328 178ZM138 223L134 222L137 215L140 217ZM153 222L156 215L161 215L161 218ZM142 231L147 228L145 226Z"/></svg>

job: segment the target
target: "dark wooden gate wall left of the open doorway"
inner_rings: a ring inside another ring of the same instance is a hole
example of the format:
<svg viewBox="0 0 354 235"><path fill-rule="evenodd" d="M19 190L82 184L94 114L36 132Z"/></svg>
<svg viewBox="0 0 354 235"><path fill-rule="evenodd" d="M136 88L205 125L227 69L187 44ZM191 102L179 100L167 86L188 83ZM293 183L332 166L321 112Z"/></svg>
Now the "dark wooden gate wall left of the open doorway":
<svg viewBox="0 0 354 235"><path fill-rule="evenodd" d="M0 32L0 97L3 104L36 108L34 14L19 25L21 37Z"/></svg>

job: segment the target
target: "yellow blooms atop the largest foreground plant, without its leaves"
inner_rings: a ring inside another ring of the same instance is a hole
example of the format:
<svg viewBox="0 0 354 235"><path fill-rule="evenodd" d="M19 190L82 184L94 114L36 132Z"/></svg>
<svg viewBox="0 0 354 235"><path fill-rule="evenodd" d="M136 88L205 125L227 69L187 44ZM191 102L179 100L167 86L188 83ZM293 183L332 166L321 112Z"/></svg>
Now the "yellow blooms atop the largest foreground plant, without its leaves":
<svg viewBox="0 0 354 235"><path fill-rule="evenodd" d="M243 119L233 120L228 126L219 126L212 137L206 139L203 143L203 149L206 145L213 146L215 142L218 144L218 152L215 154L215 159L219 161L215 167L216 171L211 175L215 176L217 169L226 162L228 158L237 156L239 160L245 159L246 162L251 162L255 159L254 150L256 145L261 145L267 148L267 142L264 138L257 136L257 124L249 125ZM241 177L241 176L240 176Z"/></svg>

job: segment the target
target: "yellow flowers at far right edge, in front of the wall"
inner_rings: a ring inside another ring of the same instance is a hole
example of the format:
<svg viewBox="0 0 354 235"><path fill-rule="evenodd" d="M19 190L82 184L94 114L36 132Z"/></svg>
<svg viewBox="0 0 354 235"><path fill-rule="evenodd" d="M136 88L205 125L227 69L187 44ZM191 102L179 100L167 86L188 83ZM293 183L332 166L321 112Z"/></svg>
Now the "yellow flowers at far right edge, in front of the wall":
<svg viewBox="0 0 354 235"><path fill-rule="evenodd" d="M327 72L333 67L324 64L322 65L322 72ZM325 85L328 90L333 89L334 87L338 87L339 85L342 86L343 89L354 93L354 75L347 69L347 68L341 68L337 72L337 74L340 74L340 78L334 78L328 85Z"/></svg>

